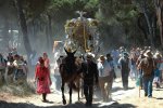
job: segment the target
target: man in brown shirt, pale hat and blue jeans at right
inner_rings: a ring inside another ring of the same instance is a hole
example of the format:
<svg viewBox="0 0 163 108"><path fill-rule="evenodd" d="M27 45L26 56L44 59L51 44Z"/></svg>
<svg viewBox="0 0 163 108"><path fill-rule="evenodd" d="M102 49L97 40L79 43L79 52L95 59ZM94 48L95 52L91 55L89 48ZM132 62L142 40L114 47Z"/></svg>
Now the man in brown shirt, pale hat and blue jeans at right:
<svg viewBox="0 0 163 108"><path fill-rule="evenodd" d="M152 82L154 77L155 62L150 50L146 51L145 58L139 63L138 68L142 69L145 96L152 97Z"/></svg>

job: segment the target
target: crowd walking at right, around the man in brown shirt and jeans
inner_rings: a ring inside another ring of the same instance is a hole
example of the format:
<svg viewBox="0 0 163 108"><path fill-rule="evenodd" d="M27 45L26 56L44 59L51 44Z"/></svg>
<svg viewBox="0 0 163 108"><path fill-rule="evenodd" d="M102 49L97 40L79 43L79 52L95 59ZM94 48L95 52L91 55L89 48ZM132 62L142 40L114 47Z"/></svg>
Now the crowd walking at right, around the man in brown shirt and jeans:
<svg viewBox="0 0 163 108"><path fill-rule="evenodd" d="M151 46L136 48L129 52L124 48L120 48L116 54L120 55L118 60L114 58L114 55L113 59L121 69L124 90L128 89L128 77L130 77L131 80L136 80L140 89L145 90L145 96L152 97L153 85L159 89L163 81L162 52Z"/></svg>

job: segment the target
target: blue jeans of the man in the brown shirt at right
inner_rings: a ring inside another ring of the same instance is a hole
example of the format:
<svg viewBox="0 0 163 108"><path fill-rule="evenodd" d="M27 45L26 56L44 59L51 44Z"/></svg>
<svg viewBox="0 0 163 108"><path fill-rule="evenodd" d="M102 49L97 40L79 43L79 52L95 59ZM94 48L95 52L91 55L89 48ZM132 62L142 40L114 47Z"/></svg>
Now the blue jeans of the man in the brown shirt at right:
<svg viewBox="0 0 163 108"><path fill-rule="evenodd" d="M152 82L153 76L151 77L143 77L143 90L146 96L152 96Z"/></svg>

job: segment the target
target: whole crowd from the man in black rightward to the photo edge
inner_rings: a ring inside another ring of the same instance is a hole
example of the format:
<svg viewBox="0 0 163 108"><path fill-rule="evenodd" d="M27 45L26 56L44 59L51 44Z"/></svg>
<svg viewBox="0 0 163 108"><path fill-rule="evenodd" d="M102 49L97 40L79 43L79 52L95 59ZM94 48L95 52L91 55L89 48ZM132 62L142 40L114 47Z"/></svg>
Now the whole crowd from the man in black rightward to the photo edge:
<svg viewBox="0 0 163 108"><path fill-rule="evenodd" d="M97 60L93 54L87 54L84 63L87 67L84 70L84 94L88 106L92 103L93 84L100 87L103 102L112 99L112 84L117 69L121 70L122 85L125 91L129 89L130 78L145 90L145 96L148 97L152 97L153 84L155 87L161 87L163 81L162 53L152 50L151 46L133 48L130 51L121 46L118 50L100 55ZM96 83L93 83L95 79Z"/></svg>

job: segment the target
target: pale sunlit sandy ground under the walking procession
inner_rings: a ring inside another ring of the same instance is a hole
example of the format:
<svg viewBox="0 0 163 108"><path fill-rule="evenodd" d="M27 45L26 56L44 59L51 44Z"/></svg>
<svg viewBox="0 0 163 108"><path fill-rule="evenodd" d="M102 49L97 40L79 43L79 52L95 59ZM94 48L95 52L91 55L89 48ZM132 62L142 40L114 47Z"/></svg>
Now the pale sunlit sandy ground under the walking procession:
<svg viewBox="0 0 163 108"><path fill-rule="evenodd" d="M53 86L53 85L52 85ZM85 108L85 98L77 100L77 93L73 93L73 103L62 105L61 92L54 91L48 95L49 103L41 102L41 95L34 94L26 97L14 96L9 93L0 92L0 108ZM67 103L68 94L65 93ZM113 83L112 100L103 103L96 92L92 108L163 108L163 89L153 87L153 97L143 96L143 90L135 86L135 81L129 80L129 90L122 89L121 79Z"/></svg>

